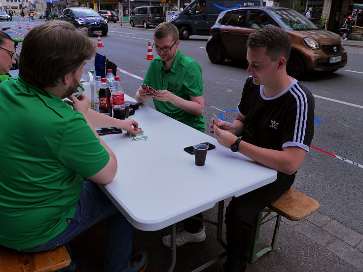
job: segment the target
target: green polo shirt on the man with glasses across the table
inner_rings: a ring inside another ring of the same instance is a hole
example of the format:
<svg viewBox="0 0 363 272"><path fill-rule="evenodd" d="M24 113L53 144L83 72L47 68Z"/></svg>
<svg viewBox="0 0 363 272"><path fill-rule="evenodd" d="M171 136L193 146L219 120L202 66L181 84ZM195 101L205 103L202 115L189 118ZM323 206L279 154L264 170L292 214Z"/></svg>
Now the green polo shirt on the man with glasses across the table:
<svg viewBox="0 0 363 272"><path fill-rule="evenodd" d="M183 55L179 49L170 70L165 69L164 62L160 57L154 58L146 72L143 83L155 90L168 90L187 101L190 101L189 96L203 95L202 69L196 61ZM206 122L203 115L196 116L170 102L153 100L156 110L204 132Z"/></svg>

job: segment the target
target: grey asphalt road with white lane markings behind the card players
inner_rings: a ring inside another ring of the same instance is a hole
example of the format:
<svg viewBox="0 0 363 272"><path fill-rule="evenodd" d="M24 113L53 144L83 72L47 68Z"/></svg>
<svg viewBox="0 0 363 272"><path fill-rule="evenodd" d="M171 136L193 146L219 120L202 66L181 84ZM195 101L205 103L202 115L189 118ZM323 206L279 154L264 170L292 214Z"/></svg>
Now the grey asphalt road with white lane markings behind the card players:
<svg viewBox="0 0 363 272"><path fill-rule="evenodd" d="M13 30L18 31L16 20L19 19L14 17L14 20L15 22L0 22L0 25L11 25ZM36 23L30 23L31 27ZM23 29L19 31L26 34L26 24L22 23L22 27ZM19 37L16 34L11 34L11 36ZM96 36L92 39L97 41ZM98 53L106 55L109 60L117 64L118 68L144 77L150 63L149 60L145 60L145 57L147 43L150 41L152 44L153 42L152 31L123 29L117 27L117 24L110 23L109 35L101 37L101 39L104 47L98 48ZM179 48L182 53L195 59L203 70L205 103L213 106L205 107L207 123L213 117L213 112L220 118L232 121L241 98L244 82L248 77L246 65L231 61L226 61L223 65L212 64L205 50L207 39L207 36L191 36L190 40L182 41ZM346 50L348 51L348 64L345 68L331 74L309 74L306 79L301 81L315 96L316 123L312 146L321 150L311 148L297 173L293 187L319 201L320 213L363 234L363 50L353 47L346 47ZM87 63L86 70L89 69L93 69L93 61ZM121 72L118 72L118 75L121 77L125 93L134 97L141 80ZM152 102L147 102L147 104L153 106ZM140 126L142 127L142 124ZM350 162L338 159L324 151L344 157ZM234 170L231 169L231 171ZM228 173L226 173L226 177L228 177ZM207 211L206 214L212 216L210 211ZM167 233L168 230L156 233L136 230L137 235L148 240L146 244L159 245L162 235ZM94 244L89 245L88 240L78 239L78 242L83 243L79 244L80 248L94 246ZM139 248L139 243L136 247ZM142 246L140 247L143 249ZM162 247L161 249L159 247L158 250L165 250L161 256L168 252ZM197 254L199 250L208 251L208 246L191 245L185 252L182 247L178 256ZM102 255L99 258L101 260ZM83 261L87 262L87 260ZM188 266L188 264L186 265ZM158 266L156 265L156 267ZM150 271L165 270L156 268ZM268 271L268 268L256 271ZM328 268L322 271L328 271Z"/></svg>

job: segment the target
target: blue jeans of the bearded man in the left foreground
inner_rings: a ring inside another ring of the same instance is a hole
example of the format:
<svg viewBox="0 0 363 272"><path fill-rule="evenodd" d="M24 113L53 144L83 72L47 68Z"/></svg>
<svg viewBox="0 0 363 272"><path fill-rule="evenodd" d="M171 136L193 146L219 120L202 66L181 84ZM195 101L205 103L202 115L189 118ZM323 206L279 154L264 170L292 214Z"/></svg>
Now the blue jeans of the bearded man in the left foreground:
<svg viewBox="0 0 363 272"><path fill-rule="evenodd" d="M66 219L68 228L46 243L20 251L51 250L105 219L108 219L108 227L105 230L107 245L104 272L122 272L130 265L133 227L98 185L90 180L83 181L74 218Z"/></svg>

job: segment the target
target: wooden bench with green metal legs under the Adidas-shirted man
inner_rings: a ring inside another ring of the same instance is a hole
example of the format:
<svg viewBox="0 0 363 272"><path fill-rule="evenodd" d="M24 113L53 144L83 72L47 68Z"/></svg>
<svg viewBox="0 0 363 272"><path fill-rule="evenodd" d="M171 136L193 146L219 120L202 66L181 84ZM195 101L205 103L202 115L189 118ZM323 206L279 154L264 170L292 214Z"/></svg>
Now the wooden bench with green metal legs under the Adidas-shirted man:
<svg viewBox="0 0 363 272"><path fill-rule="evenodd" d="M319 206L320 204L316 200L300 193L297 190L290 188L279 199L268 205L267 208L261 210L255 221L254 243L249 254L249 263L253 264L259 257L275 248L281 216L284 216L291 221L300 221L306 216L317 211L319 209ZM276 212L277 215L266 219L271 212ZM265 214L263 215L263 213ZM260 226L274 218L276 218L276 224L271 246L266 247L256 253Z"/></svg>

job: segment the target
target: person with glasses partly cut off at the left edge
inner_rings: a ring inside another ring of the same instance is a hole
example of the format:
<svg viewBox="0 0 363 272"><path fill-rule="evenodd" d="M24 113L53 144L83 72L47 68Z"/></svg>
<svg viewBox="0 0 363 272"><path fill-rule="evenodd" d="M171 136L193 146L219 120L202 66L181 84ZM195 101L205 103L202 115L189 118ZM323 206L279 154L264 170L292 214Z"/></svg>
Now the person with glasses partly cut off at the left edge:
<svg viewBox="0 0 363 272"><path fill-rule="evenodd" d="M0 82L7 80L11 66L15 63L13 39L5 32L0 31Z"/></svg>

